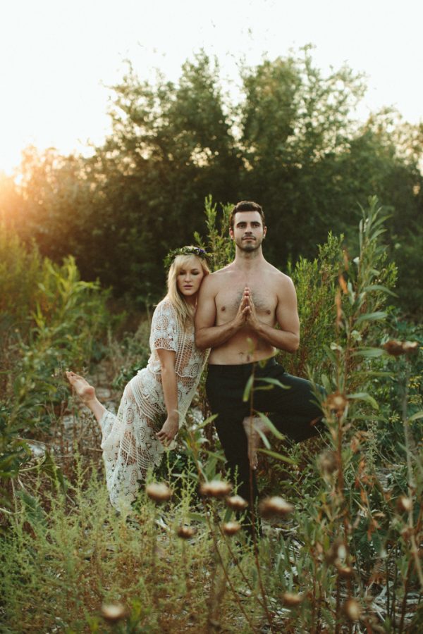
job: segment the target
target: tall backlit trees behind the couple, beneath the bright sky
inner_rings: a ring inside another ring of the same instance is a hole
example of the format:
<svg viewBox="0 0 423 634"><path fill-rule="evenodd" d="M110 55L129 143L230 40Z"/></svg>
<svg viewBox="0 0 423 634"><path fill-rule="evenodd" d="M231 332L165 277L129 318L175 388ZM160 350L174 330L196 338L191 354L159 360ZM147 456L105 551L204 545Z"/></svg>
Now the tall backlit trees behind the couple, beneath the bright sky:
<svg viewBox="0 0 423 634"><path fill-rule="evenodd" d="M419 313L421 127L387 108L357 122L362 77L346 66L325 75L309 46L241 67L241 80L235 103L204 52L178 82L142 82L129 66L104 145L90 159L29 149L0 216L44 256L73 254L83 279L141 306L163 294L166 252L204 232L209 194L264 206L267 255L281 268L313 260L329 230L351 244L357 202L376 195L391 213L384 244L400 268L401 307Z"/></svg>

